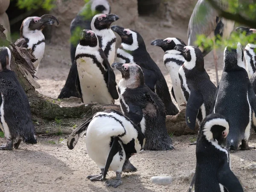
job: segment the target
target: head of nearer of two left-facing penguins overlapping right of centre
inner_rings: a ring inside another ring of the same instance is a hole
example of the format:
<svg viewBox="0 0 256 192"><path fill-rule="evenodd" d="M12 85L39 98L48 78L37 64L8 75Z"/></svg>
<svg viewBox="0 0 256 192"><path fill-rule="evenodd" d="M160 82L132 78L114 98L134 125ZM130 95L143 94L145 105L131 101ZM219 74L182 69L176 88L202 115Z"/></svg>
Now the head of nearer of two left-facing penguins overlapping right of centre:
<svg viewBox="0 0 256 192"><path fill-rule="evenodd" d="M185 58L184 67L188 70L192 70L194 67L204 70L204 56L198 47L178 44L174 49L182 53Z"/></svg>

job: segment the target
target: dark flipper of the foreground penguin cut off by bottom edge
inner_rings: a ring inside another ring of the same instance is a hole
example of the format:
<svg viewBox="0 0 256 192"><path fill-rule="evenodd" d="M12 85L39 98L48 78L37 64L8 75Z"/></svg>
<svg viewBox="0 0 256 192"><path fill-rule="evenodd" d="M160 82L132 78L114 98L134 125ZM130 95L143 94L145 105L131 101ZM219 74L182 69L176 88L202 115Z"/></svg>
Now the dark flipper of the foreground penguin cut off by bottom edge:
<svg viewBox="0 0 256 192"><path fill-rule="evenodd" d="M230 170L230 167L225 164L222 166L218 172L217 178L218 182L223 185L227 191L243 192L243 187L239 182L236 175Z"/></svg>

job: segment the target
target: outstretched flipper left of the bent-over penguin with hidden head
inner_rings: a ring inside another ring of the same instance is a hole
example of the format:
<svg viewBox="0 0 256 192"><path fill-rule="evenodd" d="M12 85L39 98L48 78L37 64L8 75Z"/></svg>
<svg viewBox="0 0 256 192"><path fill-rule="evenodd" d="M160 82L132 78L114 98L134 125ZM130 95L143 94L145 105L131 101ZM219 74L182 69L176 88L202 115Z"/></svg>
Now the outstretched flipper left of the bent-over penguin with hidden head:
<svg viewBox="0 0 256 192"><path fill-rule="evenodd" d="M87 131L87 127L89 126L91 120L93 119L93 116L91 116L89 119L87 119L84 123L79 125L78 128L76 128L68 137L67 140L67 147L69 149L73 149L76 146L76 143L78 142L79 138L85 134Z"/></svg>

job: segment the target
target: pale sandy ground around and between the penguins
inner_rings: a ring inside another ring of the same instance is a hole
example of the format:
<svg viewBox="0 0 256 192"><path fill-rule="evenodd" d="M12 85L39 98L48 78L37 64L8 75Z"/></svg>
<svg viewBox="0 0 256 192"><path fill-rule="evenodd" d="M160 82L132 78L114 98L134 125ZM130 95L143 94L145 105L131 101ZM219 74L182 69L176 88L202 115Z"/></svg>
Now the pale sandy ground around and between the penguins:
<svg viewBox="0 0 256 192"><path fill-rule="evenodd" d="M163 51L150 42L156 38L179 37L187 41L186 24L173 24L162 27L160 20L140 17L138 31L143 36L148 52L163 72L169 89L172 82L163 64ZM67 40L68 41L68 40ZM223 50L218 51L219 79L223 68ZM213 82L215 71L213 55L205 58L205 68ZM38 71L40 93L57 98L70 69L69 44L46 47L41 67ZM117 82L121 75L116 72ZM118 101L116 102L118 103ZM105 186L104 182L91 182L87 175L98 174L99 169L86 153L84 138L76 148L67 148L67 135L38 136L37 145L21 144L20 149L0 152L0 191L140 191L140 192L183 192L189 188L195 172L195 145L189 145L195 135L173 137L175 151L141 151L131 158L137 167L135 173L123 174L123 184L117 189ZM0 139L0 145L6 141ZM249 140L256 146L256 135L252 131ZM239 177L246 192L256 191L256 170L249 169L256 164L256 150L238 151L231 154L232 169ZM155 185L149 179L155 175L171 175L170 185ZM110 172L107 178L113 179Z"/></svg>

